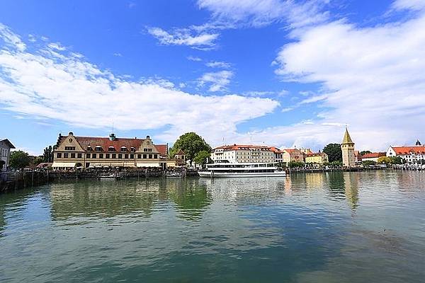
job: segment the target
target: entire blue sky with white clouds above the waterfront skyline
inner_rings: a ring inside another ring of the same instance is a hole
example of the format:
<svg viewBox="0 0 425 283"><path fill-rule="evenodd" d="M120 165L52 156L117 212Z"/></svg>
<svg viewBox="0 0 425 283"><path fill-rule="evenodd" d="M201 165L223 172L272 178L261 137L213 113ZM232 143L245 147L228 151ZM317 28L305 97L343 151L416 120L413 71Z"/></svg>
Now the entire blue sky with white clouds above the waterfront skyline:
<svg viewBox="0 0 425 283"><path fill-rule="evenodd" d="M0 138L425 141L425 0L0 2Z"/></svg>

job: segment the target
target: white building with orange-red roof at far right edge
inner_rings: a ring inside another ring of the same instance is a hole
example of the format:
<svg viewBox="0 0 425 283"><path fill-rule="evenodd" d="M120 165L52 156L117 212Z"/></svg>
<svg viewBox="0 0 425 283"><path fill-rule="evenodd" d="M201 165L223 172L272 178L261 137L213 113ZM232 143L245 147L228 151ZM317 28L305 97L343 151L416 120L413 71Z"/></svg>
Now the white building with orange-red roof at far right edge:
<svg viewBox="0 0 425 283"><path fill-rule="evenodd" d="M425 164L425 146L421 145L419 140L414 146L390 146L387 149L386 156L399 156L403 163L409 165Z"/></svg>

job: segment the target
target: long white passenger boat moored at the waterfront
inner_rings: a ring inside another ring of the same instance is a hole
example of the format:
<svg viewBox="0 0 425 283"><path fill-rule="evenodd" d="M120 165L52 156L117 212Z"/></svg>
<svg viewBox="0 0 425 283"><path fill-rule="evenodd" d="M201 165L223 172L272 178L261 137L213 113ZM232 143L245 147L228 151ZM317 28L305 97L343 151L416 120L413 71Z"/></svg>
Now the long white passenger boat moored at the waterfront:
<svg viewBox="0 0 425 283"><path fill-rule="evenodd" d="M199 171L200 177L246 178L246 177L285 177L278 163L213 163L207 164L206 171Z"/></svg>

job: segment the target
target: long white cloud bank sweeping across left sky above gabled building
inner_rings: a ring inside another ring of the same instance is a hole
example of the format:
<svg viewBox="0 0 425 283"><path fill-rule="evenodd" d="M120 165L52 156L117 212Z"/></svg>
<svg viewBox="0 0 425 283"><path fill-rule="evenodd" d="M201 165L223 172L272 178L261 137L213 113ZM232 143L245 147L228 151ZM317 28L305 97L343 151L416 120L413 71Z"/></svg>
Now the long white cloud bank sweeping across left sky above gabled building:
<svg viewBox="0 0 425 283"><path fill-rule="evenodd" d="M15 115L72 127L109 127L113 120L123 130L166 128L157 136L162 141L196 131L215 144L222 132L236 133L239 123L279 105L268 98L194 95L157 78L130 81L67 51L57 57L26 51L19 40L11 42L9 48L0 48L0 107Z"/></svg>

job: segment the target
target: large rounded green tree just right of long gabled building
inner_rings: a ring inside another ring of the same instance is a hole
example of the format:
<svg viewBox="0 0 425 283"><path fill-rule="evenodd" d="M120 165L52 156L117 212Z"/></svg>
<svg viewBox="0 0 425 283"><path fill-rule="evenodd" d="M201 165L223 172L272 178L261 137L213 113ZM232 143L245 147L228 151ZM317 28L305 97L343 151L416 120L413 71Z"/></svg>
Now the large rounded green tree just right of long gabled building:
<svg viewBox="0 0 425 283"><path fill-rule="evenodd" d="M188 132L182 134L179 139L176 140L173 147L170 150L171 157L174 157L176 153L181 149L186 154L186 157L192 164L193 158L200 151L211 151L211 146L205 142L205 140L200 137L195 132Z"/></svg>

